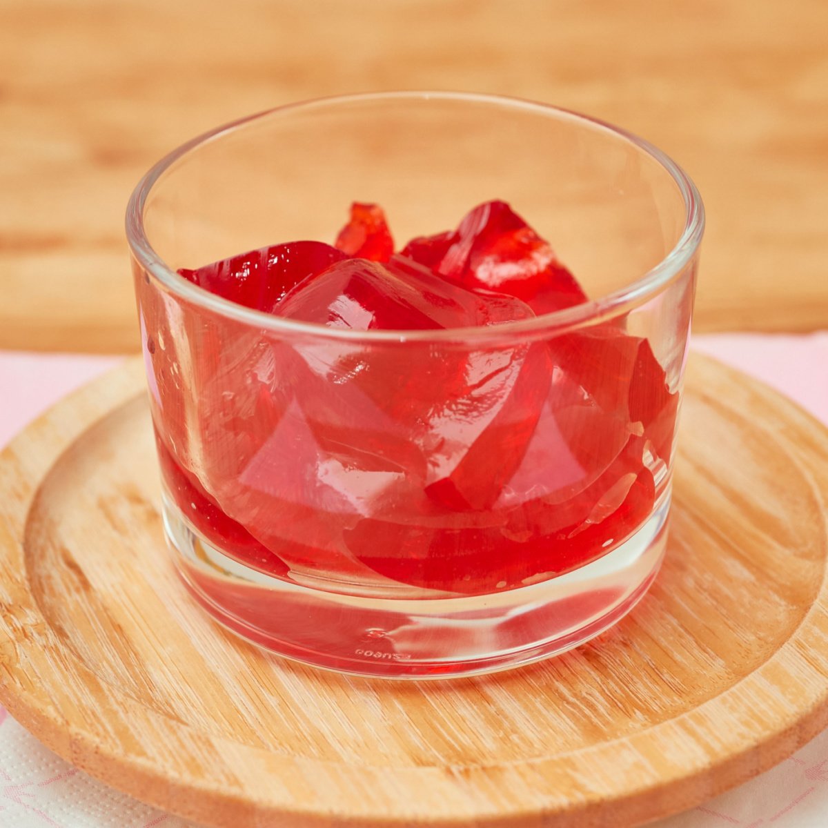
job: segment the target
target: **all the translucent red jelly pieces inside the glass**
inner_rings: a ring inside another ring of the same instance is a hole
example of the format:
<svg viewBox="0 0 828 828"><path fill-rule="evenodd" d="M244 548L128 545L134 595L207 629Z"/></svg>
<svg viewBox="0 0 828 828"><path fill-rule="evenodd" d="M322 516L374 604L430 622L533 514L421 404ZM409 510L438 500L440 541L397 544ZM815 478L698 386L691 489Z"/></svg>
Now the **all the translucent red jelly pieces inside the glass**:
<svg viewBox="0 0 828 828"><path fill-rule="evenodd" d="M278 244L181 274L255 310L402 336L586 299L502 201L397 254L383 211L354 204L335 247ZM239 335L145 294L166 488L248 566L342 591L478 595L583 566L652 513L678 398L647 339Z"/></svg>

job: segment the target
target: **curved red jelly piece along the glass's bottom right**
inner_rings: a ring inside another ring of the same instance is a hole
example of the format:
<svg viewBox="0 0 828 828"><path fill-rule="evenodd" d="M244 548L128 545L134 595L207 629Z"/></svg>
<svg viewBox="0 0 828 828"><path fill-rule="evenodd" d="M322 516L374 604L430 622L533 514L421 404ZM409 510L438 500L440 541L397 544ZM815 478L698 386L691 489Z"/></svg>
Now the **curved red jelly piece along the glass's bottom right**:
<svg viewBox="0 0 828 828"><path fill-rule="evenodd" d="M631 437L604 474L563 502L534 498L485 514L424 511L419 523L368 517L347 540L373 570L422 589L516 589L603 556L641 526L655 495L642 456L643 439Z"/></svg>

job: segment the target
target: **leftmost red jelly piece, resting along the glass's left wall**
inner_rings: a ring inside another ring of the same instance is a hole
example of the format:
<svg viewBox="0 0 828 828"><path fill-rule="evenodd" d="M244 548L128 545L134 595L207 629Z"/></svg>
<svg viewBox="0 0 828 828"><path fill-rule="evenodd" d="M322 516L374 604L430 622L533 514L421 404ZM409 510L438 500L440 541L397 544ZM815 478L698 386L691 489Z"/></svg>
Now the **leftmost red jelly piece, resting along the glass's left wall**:
<svg viewBox="0 0 828 828"><path fill-rule="evenodd" d="M272 310L296 282L343 258L344 253L327 244L280 244L182 275L231 301ZM196 310L189 301L156 290L142 278L137 296L169 493L216 546L233 550L257 568L285 572L281 560L268 558L256 545L250 527L243 527L249 537L241 534L242 524L224 508L228 491L277 429L291 402L272 335ZM192 515L192 503L203 506L200 517Z"/></svg>

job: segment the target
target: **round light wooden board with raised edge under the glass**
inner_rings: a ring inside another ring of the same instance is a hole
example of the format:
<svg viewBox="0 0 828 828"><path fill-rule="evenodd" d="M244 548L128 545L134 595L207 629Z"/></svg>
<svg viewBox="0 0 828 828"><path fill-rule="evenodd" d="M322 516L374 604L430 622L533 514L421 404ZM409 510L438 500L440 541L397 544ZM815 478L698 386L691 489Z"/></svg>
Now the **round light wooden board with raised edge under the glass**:
<svg viewBox="0 0 828 828"><path fill-rule="evenodd" d="M368 681L212 623L166 557L142 366L0 455L2 702L51 749L209 826L633 826L828 724L828 432L688 373L667 561L628 618L495 676Z"/></svg>

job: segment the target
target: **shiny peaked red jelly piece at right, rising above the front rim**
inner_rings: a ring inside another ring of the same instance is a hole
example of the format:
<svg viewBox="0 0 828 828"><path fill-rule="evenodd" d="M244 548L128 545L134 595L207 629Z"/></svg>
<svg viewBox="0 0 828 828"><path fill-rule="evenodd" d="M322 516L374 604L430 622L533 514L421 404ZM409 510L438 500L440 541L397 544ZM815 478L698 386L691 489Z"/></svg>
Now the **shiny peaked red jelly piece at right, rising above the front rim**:
<svg viewBox="0 0 828 828"><path fill-rule="evenodd" d="M517 296L538 315L587 298L549 243L503 201L475 207L454 233L413 239L402 255L470 290Z"/></svg>

